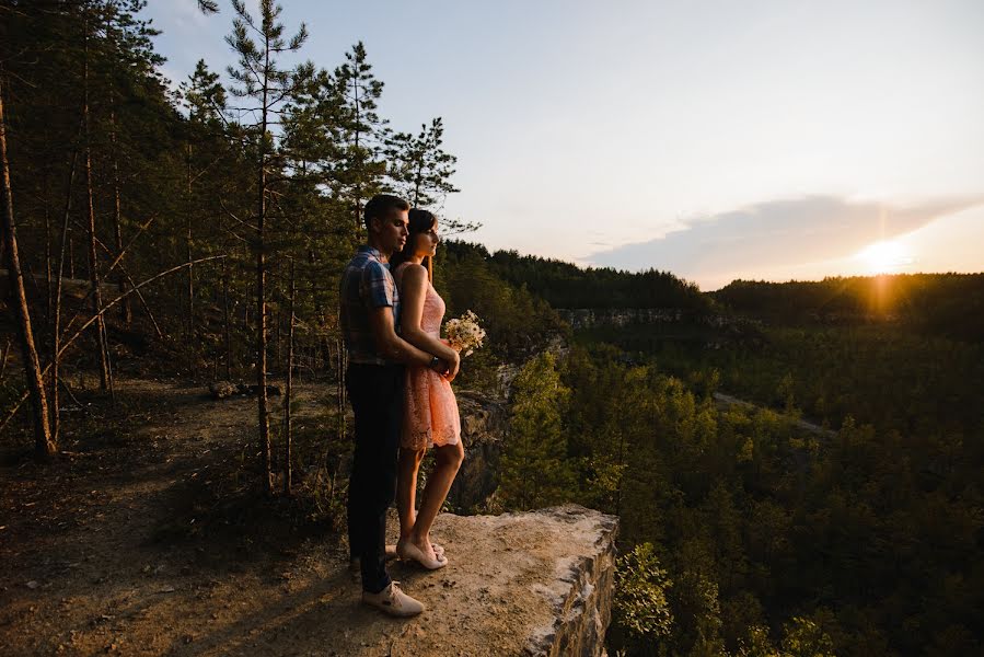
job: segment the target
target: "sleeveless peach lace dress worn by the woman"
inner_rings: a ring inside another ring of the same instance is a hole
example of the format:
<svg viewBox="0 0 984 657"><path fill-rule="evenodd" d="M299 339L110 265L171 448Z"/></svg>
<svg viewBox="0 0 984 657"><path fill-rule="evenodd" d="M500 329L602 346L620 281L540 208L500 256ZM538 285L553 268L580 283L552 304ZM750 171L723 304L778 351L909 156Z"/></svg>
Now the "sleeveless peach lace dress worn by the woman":
<svg viewBox="0 0 984 657"><path fill-rule="evenodd" d="M397 284L404 267L409 264L403 263L393 272ZM444 309L444 300L428 281L420 328L440 338ZM404 449L420 450L435 446L458 445L461 440L461 417L451 383L429 367L409 366L406 370L406 397L400 446Z"/></svg>

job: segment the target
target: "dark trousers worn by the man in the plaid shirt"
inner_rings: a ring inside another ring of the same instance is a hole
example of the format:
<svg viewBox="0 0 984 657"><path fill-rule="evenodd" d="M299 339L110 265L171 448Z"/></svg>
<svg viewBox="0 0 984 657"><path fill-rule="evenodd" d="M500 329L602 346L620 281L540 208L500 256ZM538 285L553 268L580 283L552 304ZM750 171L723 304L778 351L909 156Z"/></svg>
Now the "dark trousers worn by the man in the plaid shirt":
<svg viewBox="0 0 984 657"><path fill-rule="evenodd" d="M396 496L396 452L406 370L350 364L345 377L356 412L356 453L348 484L348 540L361 561L362 589L378 593L386 573L386 509Z"/></svg>

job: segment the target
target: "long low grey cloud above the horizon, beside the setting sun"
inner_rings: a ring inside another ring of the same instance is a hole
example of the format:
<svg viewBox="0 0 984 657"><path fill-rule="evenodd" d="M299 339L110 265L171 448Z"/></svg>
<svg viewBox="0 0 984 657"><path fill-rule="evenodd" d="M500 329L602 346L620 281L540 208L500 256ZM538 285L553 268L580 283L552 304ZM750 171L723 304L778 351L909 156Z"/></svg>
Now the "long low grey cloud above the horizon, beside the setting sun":
<svg viewBox="0 0 984 657"><path fill-rule="evenodd" d="M692 219L656 240L599 251L598 266L670 270L691 280L795 267L850 255L940 217L984 203L984 196L893 207L835 196L776 199Z"/></svg>

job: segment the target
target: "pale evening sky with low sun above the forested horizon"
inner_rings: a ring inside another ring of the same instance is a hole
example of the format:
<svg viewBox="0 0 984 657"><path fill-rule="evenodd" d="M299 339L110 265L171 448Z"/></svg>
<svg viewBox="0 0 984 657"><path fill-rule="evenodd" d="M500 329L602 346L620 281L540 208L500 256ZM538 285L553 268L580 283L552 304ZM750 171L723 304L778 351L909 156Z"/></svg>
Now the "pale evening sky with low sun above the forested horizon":
<svg viewBox="0 0 984 657"><path fill-rule="evenodd" d="M175 83L234 64L219 4L150 0ZM441 214L489 250L704 290L984 270L980 0L281 4L299 59L366 45L391 127L443 118Z"/></svg>

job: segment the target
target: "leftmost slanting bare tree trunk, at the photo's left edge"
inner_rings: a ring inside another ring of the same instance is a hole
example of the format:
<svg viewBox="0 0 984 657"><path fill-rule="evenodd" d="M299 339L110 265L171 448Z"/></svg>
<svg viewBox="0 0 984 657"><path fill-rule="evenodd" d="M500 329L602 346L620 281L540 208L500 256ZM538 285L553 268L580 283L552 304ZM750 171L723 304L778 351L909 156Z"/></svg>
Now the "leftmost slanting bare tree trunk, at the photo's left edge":
<svg viewBox="0 0 984 657"><path fill-rule="evenodd" d="M2 78L2 76L0 76ZM0 80L2 84L2 80ZM38 458L47 458L57 450L48 423L48 402L45 396L45 384L40 372L40 360L34 346L34 332L31 330L31 313L27 310L27 295L24 290L24 276L21 274L21 258L18 253L16 224L13 218L13 192L10 186L10 163L7 159L7 118L3 114L3 88L0 87L0 222L7 272L10 277L11 304L18 324L18 339L21 343L21 355L24 360L24 378L31 392L31 407L34 416L34 451Z"/></svg>

